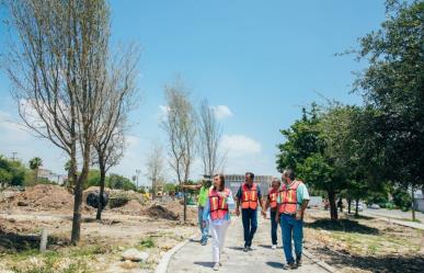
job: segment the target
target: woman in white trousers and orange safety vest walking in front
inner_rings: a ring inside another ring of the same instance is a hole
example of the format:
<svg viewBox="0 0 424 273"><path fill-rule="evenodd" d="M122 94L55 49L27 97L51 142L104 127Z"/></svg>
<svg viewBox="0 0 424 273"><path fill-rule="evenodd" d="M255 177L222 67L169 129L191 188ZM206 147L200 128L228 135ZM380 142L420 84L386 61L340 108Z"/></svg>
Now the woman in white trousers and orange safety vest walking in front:
<svg viewBox="0 0 424 273"><path fill-rule="evenodd" d="M222 253L227 228L230 225L230 214L228 205L234 204L230 189L226 187L226 181L222 174L214 177L214 186L210 187L208 202L206 202L203 225L209 220L213 236L213 261L214 270L219 270L222 265L220 254Z"/></svg>

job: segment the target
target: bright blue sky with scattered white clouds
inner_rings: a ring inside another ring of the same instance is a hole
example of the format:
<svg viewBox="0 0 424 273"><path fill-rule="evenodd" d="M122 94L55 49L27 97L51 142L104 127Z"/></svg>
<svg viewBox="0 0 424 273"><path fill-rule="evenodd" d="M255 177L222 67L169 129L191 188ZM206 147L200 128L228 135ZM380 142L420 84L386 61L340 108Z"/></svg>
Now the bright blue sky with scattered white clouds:
<svg viewBox="0 0 424 273"><path fill-rule="evenodd" d="M154 141L165 146L158 125L164 105L163 84L180 73L194 104L207 98L220 105L225 171L275 174L278 129L300 116L301 106L325 98L360 103L349 94L352 71L364 64L335 53L357 47L357 38L385 19L382 0L349 1L136 1L112 0L112 45L137 43L139 109L128 134L128 148L113 171L127 177L145 170ZM0 26L0 53L4 26ZM45 168L64 172L66 158L46 140L20 129L9 80L0 72L0 153L27 161L41 156ZM196 162L193 178L199 174ZM172 180L172 172L169 171ZM144 179L141 179L145 181Z"/></svg>

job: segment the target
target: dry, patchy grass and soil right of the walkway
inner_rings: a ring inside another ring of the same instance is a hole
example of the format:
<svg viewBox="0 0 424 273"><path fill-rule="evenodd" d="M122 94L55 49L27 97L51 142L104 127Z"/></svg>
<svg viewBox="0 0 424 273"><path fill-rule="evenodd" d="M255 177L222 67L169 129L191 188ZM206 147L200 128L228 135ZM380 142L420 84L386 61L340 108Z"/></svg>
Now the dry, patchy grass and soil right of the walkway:
<svg viewBox="0 0 424 273"><path fill-rule="evenodd" d="M424 231L377 218L309 211L305 248L340 272L422 272Z"/></svg>

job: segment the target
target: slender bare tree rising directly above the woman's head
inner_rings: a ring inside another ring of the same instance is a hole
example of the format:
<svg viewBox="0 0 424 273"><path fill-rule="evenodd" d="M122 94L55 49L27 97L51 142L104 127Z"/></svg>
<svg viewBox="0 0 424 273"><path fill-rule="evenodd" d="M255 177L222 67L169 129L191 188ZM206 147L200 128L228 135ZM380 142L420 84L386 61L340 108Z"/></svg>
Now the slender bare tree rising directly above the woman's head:
<svg viewBox="0 0 424 273"><path fill-rule="evenodd" d="M204 174L210 178L224 168L225 155L219 155L222 128L207 100L199 109L198 139Z"/></svg>

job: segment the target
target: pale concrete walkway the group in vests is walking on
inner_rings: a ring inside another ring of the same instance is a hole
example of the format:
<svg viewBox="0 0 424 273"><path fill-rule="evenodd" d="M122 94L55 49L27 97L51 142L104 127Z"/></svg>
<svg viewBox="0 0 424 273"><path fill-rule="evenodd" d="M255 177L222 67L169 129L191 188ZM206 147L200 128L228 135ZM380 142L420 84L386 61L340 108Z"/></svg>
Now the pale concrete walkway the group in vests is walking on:
<svg viewBox="0 0 424 273"><path fill-rule="evenodd" d="M270 220L261 217L259 229L253 239L253 251L243 252L243 236L242 225L240 217L232 217L231 226L227 231L226 247L222 254L222 268L219 272L228 273L273 273L282 272L284 261L284 253L280 247L280 240L278 241L278 249L272 250L271 236L270 236ZM279 228L279 227L278 227ZM280 238L280 231L278 231L278 239ZM171 259L168 266L169 273L175 272L214 272L213 254L211 254L211 239L206 247L200 246L197 241L190 241L182 249L180 249ZM297 270L290 270L293 272L328 272L319 266L313 261L303 257L303 265Z"/></svg>

